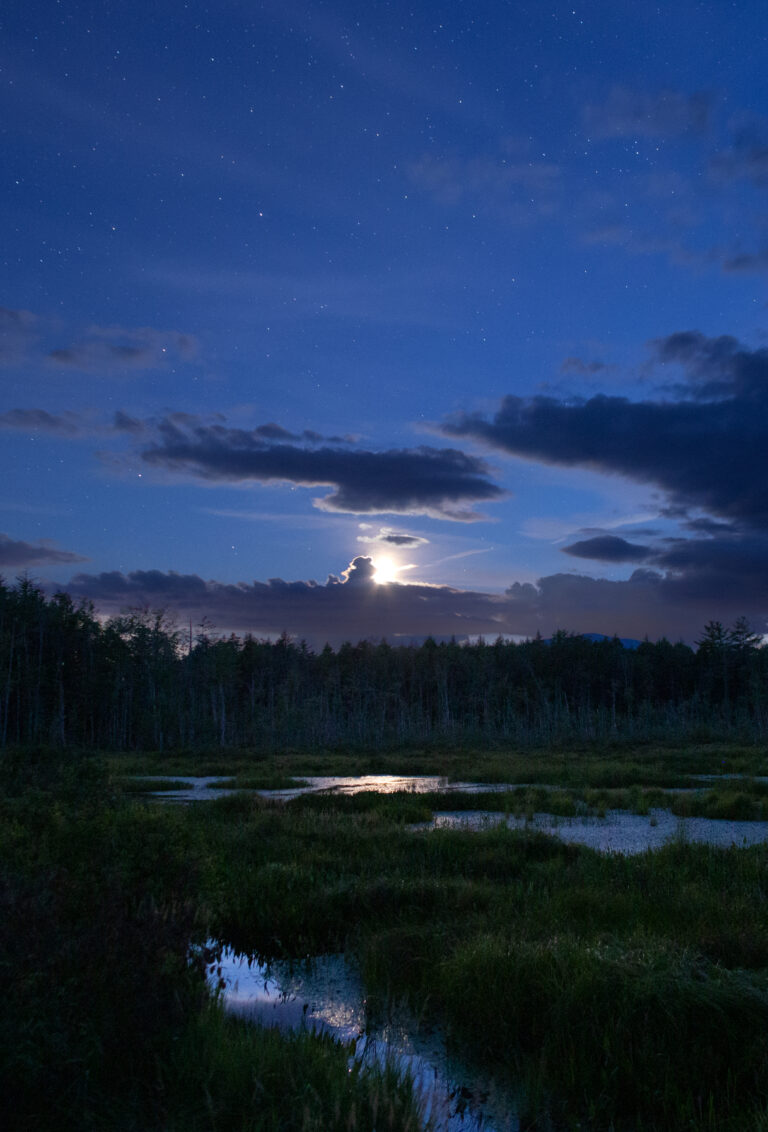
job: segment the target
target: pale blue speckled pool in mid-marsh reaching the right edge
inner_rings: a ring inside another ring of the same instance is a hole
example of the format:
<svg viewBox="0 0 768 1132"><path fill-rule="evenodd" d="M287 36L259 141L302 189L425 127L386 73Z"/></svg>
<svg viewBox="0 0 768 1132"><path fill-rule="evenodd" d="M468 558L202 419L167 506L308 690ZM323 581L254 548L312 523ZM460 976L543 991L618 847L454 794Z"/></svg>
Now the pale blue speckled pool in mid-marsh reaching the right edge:
<svg viewBox="0 0 768 1132"><path fill-rule="evenodd" d="M650 809L647 816L625 809L609 809L605 817L555 817L536 813L529 816L500 814L490 811L456 811L437 813L432 822L412 825L413 830L490 829L506 825L511 830L536 829L563 841L589 846L601 852L637 854L659 849L675 839L698 841L729 848L768 841L768 822L732 822L714 817L676 817L668 809Z"/></svg>

